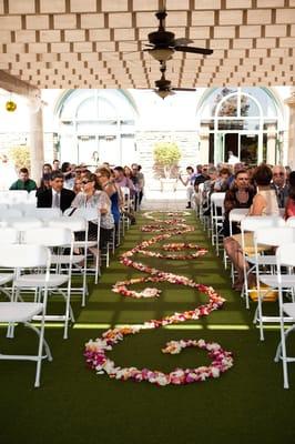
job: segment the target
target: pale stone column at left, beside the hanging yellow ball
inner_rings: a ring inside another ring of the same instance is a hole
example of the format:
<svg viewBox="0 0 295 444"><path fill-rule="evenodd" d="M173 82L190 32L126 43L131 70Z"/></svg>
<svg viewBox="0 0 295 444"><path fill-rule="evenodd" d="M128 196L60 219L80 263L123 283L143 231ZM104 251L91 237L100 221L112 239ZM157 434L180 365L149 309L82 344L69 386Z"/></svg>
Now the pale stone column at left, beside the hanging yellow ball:
<svg viewBox="0 0 295 444"><path fill-rule="evenodd" d="M43 148L43 113L42 105L35 109L35 101L30 101L30 158L31 179L39 182L44 163Z"/></svg>

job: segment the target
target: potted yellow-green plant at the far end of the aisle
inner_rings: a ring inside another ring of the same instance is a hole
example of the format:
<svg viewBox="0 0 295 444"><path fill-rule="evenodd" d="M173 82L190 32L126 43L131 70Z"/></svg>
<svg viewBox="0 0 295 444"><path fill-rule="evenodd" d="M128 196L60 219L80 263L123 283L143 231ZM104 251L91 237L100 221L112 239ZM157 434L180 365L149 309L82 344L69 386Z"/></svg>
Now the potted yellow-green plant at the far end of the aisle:
<svg viewBox="0 0 295 444"><path fill-rule="evenodd" d="M174 142L159 142L154 145L153 157L154 172L161 181L162 191L166 184L175 190L181 159L180 148Z"/></svg>

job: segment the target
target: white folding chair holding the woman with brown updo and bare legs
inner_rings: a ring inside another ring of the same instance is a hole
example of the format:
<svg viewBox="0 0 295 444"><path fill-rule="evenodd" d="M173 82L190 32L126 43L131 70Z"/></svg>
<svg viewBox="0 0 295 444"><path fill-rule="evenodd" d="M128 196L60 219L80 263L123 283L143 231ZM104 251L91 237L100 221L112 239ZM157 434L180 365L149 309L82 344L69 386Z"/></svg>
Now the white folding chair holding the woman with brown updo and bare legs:
<svg viewBox="0 0 295 444"><path fill-rule="evenodd" d="M246 309L250 307L248 297L251 290L248 287L247 278L248 274L256 270L256 265L260 266L274 266L276 263L275 255L264 255L260 254L257 259L255 258L255 245L254 245L254 232L260 228L276 228L276 226L285 226L285 221L279 216L263 216L263 215L251 215L242 219L241 221L241 235L242 235L242 252L244 259L244 285L241 292L241 296L245 297ZM245 244L245 232L251 232L253 235L252 246L247 246ZM248 269L246 266L248 263Z"/></svg>

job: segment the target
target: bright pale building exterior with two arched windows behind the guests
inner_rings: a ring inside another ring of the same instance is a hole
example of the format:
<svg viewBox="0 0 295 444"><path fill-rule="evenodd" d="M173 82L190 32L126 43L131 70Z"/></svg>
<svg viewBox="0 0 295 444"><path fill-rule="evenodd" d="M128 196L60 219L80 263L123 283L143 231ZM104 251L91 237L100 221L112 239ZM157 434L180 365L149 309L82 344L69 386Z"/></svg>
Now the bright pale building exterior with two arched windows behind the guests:
<svg viewBox="0 0 295 444"><path fill-rule="evenodd" d="M183 170L226 162L228 151L250 164L295 168L291 93L288 87L200 88L162 100L150 90L42 90L41 108L14 95L13 113L4 110L3 93L0 150L30 147L34 174L54 158L91 167L138 162L151 184L160 141L179 145Z"/></svg>

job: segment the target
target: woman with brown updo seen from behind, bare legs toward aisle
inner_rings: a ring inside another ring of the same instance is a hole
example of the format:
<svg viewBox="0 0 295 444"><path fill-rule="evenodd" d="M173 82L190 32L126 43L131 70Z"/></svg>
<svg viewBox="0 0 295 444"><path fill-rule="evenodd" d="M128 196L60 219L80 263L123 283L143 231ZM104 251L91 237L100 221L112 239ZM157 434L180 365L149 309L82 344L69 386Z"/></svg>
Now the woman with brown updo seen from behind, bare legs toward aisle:
<svg viewBox="0 0 295 444"><path fill-rule="evenodd" d="M254 172L253 180L257 186L257 193L253 199L252 206L248 215L278 215L278 205L276 200L275 191L271 188L273 173L269 167L261 164ZM244 283L244 263L243 251L242 251L242 238L241 234L235 234L231 238L224 239L224 248L226 254L232 260L234 268L237 273L236 281L234 283L235 290L242 290ZM253 250L253 233L246 233L245 246L248 250ZM256 282L253 274L248 274L248 285L253 285Z"/></svg>

